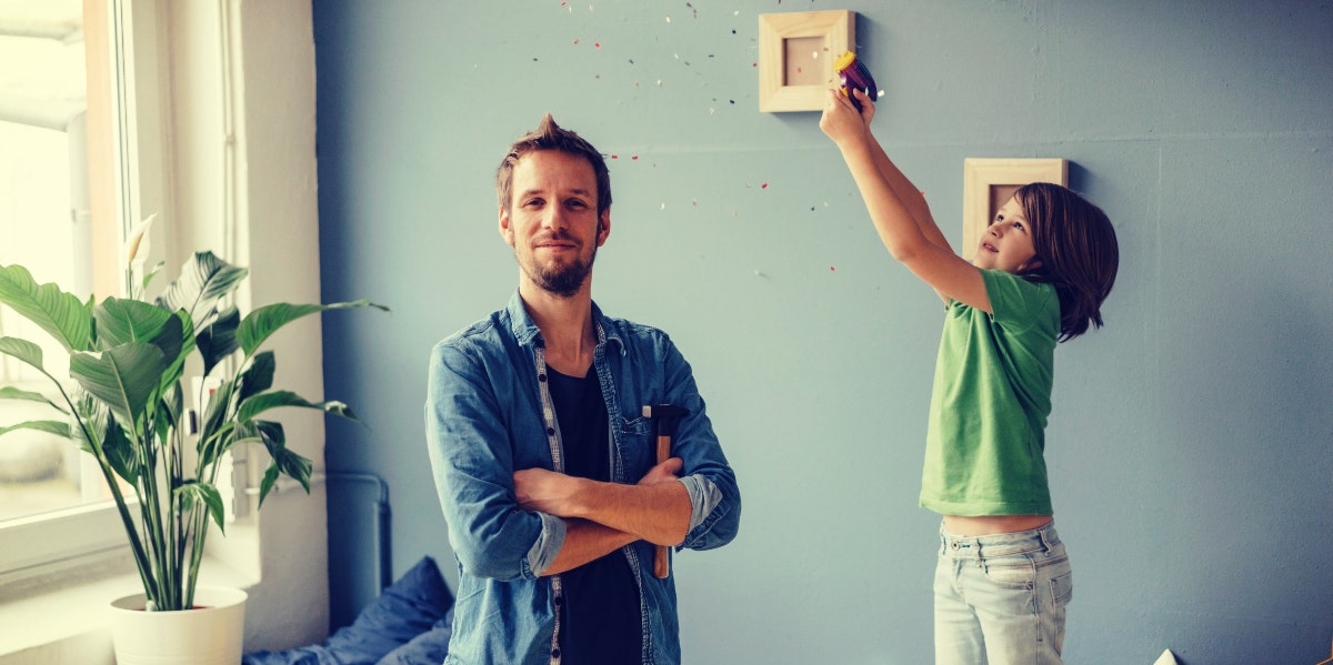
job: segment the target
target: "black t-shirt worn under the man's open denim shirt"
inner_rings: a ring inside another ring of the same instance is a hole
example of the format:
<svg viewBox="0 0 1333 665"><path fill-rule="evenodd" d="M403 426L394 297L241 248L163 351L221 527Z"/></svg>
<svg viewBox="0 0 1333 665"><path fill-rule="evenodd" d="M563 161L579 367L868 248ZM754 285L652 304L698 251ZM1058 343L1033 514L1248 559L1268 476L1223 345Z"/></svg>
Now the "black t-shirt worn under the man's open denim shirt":
<svg viewBox="0 0 1333 665"><path fill-rule="evenodd" d="M611 480L611 432L596 368L575 378L547 368L556 406L565 473ZM639 584L620 550L560 574L561 661L569 665L620 665L641 661L643 622Z"/></svg>

